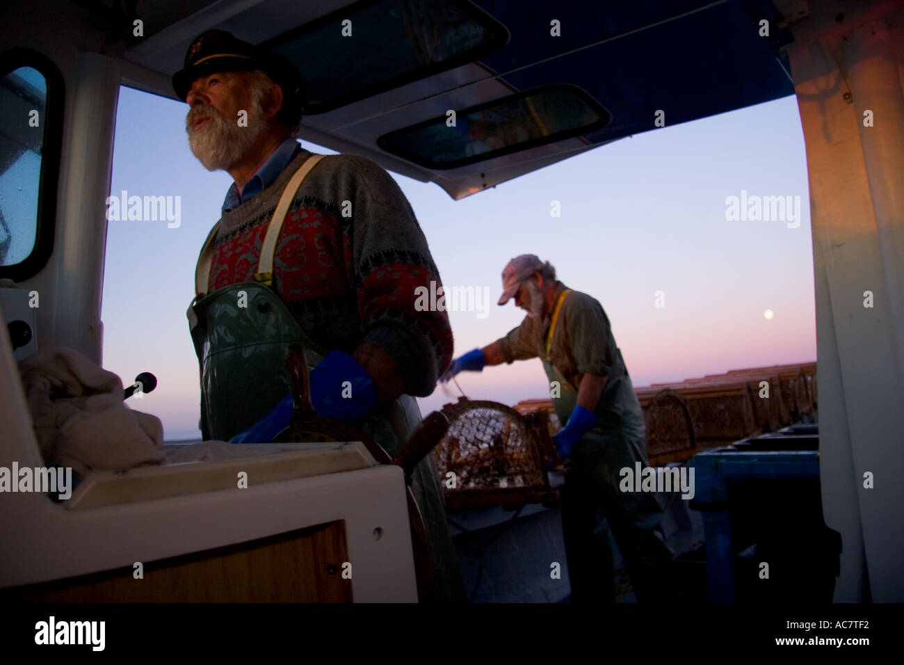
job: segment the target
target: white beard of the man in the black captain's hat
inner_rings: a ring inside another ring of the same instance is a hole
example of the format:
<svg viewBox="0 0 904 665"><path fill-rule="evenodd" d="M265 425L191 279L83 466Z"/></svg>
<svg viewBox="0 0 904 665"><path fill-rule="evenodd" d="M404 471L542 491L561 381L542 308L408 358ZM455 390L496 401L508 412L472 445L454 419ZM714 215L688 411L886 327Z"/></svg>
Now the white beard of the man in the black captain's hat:
<svg viewBox="0 0 904 665"><path fill-rule="evenodd" d="M198 116L206 116L207 124L193 129ZM257 102L249 110L248 127L239 127L237 122L223 118L220 111L210 104L193 107L185 117L188 146L208 171L228 171L238 164L266 128L263 109Z"/></svg>

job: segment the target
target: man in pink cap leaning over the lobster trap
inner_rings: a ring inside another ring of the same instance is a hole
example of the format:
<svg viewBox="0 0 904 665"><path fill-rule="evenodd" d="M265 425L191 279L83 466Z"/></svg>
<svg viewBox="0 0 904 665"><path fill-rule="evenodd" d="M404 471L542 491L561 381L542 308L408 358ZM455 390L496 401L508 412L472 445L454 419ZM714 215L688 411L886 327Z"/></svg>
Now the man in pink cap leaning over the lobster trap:
<svg viewBox="0 0 904 665"><path fill-rule="evenodd" d="M572 602L613 601L608 527L625 558L640 601L664 599L672 553L659 527L652 494L622 492L619 470L647 466L644 415L606 312L586 293L556 280L549 261L523 254L503 271L499 304L514 298L522 324L482 349L453 361L441 381L462 370L540 357L552 404L564 429L555 437L565 460L560 489L562 532Z"/></svg>

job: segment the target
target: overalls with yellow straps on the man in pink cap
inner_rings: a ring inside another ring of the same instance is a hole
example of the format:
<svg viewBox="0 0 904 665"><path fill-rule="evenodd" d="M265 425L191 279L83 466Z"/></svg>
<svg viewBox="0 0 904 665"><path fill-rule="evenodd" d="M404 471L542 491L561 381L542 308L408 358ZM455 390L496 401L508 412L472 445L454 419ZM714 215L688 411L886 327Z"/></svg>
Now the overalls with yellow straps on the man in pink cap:
<svg viewBox="0 0 904 665"><path fill-rule="evenodd" d="M546 356L541 357L549 381L561 386L552 405L563 427L578 404L578 389L552 364L550 348L561 302L569 293L562 291L552 310ZM644 415L620 350L594 414L597 423L575 443L565 461L565 485L560 489L571 602L615 600L609 527L637 599L662 599L667 595L666 566L672 559L659 526L662 508L653 494L618 488L621 469L633 470L636 461L648 465Z"/></svg>

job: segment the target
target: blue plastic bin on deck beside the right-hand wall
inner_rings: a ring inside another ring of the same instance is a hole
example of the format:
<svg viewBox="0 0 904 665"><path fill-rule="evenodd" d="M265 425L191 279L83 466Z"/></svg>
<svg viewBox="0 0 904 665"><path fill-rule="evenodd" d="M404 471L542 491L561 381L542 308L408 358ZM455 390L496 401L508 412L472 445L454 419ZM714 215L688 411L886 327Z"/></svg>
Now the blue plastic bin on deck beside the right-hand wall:
<svg viewBox="0 0 904 665"><path fill-rule="evenodd" d="M689 462L711 602L831 602L841 537L825 527L817 447L809 425L704 451ZM766 579L758 575L763 562Z"/></svg>

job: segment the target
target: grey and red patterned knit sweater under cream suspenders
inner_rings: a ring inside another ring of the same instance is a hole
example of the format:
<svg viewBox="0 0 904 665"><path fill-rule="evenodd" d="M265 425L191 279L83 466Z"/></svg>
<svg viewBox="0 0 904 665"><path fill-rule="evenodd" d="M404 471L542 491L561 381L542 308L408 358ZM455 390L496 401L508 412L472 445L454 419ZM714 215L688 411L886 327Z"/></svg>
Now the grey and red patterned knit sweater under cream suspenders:
<svg viewBox="0 0 904 665"><path fill-rule="evenodd" d="M223 213L208 292L250 281L279 196L311 153L302 150L273 184ZM345 203L347 202L347 203ZM418 311L415 289L440 285L411 205L391 176L357 155L321 159L289 206L273 261L273 289L327 350L367 340L395 358L405 392L431 394L452 360L445 311Z"/></svg>

